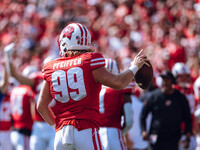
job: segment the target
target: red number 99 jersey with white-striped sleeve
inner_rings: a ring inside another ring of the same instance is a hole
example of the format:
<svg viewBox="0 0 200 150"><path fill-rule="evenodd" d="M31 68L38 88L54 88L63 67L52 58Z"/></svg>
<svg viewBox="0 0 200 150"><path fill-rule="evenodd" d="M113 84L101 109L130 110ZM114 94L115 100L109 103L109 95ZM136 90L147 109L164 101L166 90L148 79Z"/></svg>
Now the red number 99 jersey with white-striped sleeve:
<svg viewBox="0 0 200 150"><path fill-rule="evenodd" d="M104 65L100 53L83 53L58 58L43 67L44 79L49 83L51 95L56 100L54 114L57 129L64 124L74 125L68 122L73 119L85 119L98 126L101 84L95 81L92 71Z"/></svg>

